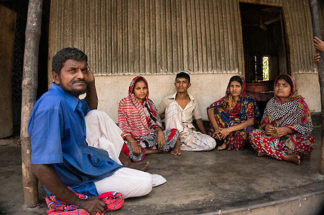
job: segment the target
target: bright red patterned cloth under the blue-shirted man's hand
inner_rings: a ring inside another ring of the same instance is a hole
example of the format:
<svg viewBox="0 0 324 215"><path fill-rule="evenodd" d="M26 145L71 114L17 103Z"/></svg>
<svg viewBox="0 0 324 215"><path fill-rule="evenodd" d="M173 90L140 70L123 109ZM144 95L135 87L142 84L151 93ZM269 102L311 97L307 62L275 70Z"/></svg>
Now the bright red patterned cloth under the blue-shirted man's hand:
<svg viewBox="0 0 324 215"><path fill-rule="evenodd" d="M76 193L72 188L68 187L75 195L80 199L87 199L88 196L84 194ZM117 192L106 192L98 196L98 199L104 201L107 205L107 210L105 210L101 215L106 211L117 210L124 205L123 194ZM49 206L49 210L46 212L50 215L90 215L85 209L79 208L76 205L67 205L65 202L56 198L56 196L51 195L49 198L45 197L46 203ZM100 213L97 213L98 215Z"/></svg>

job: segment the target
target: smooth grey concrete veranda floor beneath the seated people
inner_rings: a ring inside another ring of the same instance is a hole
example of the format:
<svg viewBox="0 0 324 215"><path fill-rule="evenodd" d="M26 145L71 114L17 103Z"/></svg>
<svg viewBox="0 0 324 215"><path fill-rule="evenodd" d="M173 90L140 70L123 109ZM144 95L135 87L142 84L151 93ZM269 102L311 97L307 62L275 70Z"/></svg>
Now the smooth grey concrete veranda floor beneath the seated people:
<svg viewBox="0 0 324 215"><path fill-rule="evenodd" d="M238 152L149 155L147 171L164 176L167 183L146 196L126 199L119 210L105 214L221 214L218 210L252 214L249 210L253 207L259 208L254 214L297 214L298 204L294 203L282 205L282 210L279 206L276 212L266 208L292 199L297 199L299 206L310 199L312 207L306 208L306 214L319 214L320 205L324 205L324 176L319 174L320 127L315 127L312 135L315 149L300 166L257 157L251 146ZM23 205L20 146L0 146L0 153L0 214L46 214L41 186L39 198L44 207L27 209Z"/></svg>

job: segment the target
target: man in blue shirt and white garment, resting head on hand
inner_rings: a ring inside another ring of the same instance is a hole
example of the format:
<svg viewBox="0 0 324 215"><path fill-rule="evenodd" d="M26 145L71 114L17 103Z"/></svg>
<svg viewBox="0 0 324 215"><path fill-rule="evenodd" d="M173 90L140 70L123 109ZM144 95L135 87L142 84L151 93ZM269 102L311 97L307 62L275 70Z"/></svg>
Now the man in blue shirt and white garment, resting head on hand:
<svg viewBox="0 0 324 215"><path fill-rule="evenodd" d="M106 151L86 143L85 115L98 105L95 78L87 61L75 48L62 49L53 57L54 82L35 103L28 133L31 171L47 194L96 214L106 209L103 201L79 199L67 186L88 196L117 191L127 198L148 194L152 175L119 165ZM86 92L86 98L79 100Z"/></svg>

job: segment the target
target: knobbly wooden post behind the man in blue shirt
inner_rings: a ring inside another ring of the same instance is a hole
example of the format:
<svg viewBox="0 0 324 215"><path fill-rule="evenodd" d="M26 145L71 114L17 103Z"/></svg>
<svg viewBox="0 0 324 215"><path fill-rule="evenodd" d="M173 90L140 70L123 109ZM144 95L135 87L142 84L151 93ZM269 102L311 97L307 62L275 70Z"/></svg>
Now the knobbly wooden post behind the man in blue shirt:
<svg viewBox="0 0 324 215"><path fill-rule="evenodd" d="M42 28L43 0L29 0L26 39L24 51L24 67L22 77L22 106L21 106L21 162L24 202L28 206L38 204L38 180L30 171L31 146L27 132L28 120L36 101L38 50Z"/></svg>

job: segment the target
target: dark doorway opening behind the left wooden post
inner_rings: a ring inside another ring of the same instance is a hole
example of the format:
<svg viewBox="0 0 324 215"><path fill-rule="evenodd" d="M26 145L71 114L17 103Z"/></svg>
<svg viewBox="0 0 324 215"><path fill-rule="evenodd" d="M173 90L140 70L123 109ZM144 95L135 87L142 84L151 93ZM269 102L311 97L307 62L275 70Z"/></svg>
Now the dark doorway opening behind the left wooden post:
<svg viewBox="0 0 324 215"><path fill-rule="evenodd" d="M25 29L28 12L28 1L11 0L0 1L0 4L6 8L16 12L16 23L14 23L14 47L13 47L13 62L12 62L12 123L13 131L10 136L20 135L20 115L21 115L21 83L23 72L23 57L25 47ZM42 15L42 34L39 41L39 56L38 56L38 89L37 99L48 90L48 43L49 43L49 15L50 15L50 0L43 1ZM1 80L0 80L1 81ZM0 128L1 129L1 128Z"/></svg>

